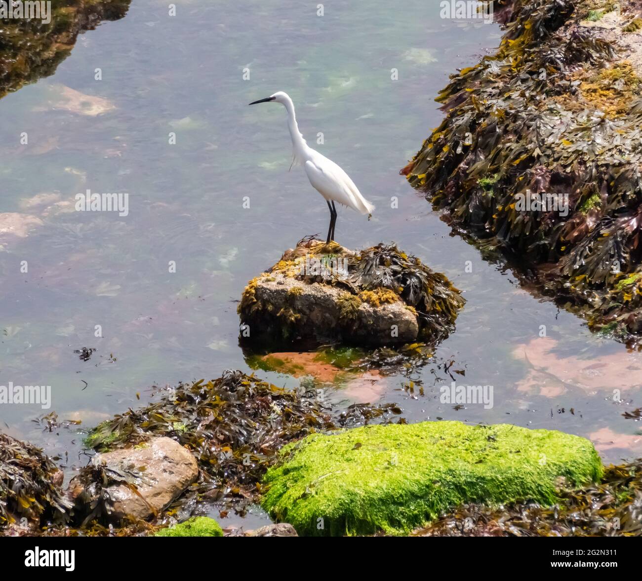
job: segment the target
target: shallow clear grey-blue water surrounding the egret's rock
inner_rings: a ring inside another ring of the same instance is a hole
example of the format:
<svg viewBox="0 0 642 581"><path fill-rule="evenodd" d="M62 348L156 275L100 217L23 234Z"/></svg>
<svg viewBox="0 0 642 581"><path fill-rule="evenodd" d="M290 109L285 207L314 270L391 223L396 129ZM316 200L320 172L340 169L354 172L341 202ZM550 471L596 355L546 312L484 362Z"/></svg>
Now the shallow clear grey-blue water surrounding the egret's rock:
<svg viewBox="0 0 642 581"><path fill-rule="evenodd" d="M0 405L0 426L81 465L82 435L31 420L55 410L90 428L144 402L154 384L249 370L235 301L284 249L324 234L328 220L302 169L288 172L283 108L247 107L282 90L304 137L377 206L370 221L340 210L338 241L395 241L444 272L467 305L437 361L465 370L458 384L494 388L492 408L455 410L439 401L450 377L428 366L418 377L424 395L386 377L361 393L338 386L333 399L395 401L408 421L561 429L592 437L607 461L639 454L637 424L621 413L640 405L641 356L521 289L451 236L397 173L440 123L433 99L448 74L494 48L499 29L441 20L436 0L327 3L324 16L316 12L316 3L193 0L168 17L166 3L134 0L124 19L79 37L55 75L0 101L0 212L42 220L28 236L0 235L0 385L51 385L53 400L49 410ZM86 189L128 193L128 216L73 211ZM74 354L82 347L97 349L89 361Z"/></svg>

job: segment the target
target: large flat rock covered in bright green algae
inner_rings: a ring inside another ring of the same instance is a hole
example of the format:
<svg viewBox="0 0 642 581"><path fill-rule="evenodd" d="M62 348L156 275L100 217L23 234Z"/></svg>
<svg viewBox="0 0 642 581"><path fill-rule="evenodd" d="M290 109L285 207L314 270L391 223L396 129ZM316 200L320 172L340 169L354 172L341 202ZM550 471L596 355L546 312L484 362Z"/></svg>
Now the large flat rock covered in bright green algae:
<svg viewBox="0 0 642 581"><path fill-rule="evenodd" d="M421 422L313 434L288 444L263 480L263 508L300 535L404 534L462 503L555 503L598 481L585 438L498 424Z"/></svg>

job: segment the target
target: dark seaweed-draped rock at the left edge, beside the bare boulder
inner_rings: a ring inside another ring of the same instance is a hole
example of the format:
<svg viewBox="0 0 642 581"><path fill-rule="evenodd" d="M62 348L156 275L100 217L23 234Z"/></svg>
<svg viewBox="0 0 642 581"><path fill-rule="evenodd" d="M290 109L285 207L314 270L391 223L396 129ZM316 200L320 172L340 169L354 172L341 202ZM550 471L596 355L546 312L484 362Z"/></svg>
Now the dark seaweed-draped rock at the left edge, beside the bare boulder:
<svg viewBox="0 0 642 581"><path fill-rule="evenodd" d="M0 532L23 518L35 526L64 522L71 503L61 483L62 471L42 450L0 434Z"/></svg>

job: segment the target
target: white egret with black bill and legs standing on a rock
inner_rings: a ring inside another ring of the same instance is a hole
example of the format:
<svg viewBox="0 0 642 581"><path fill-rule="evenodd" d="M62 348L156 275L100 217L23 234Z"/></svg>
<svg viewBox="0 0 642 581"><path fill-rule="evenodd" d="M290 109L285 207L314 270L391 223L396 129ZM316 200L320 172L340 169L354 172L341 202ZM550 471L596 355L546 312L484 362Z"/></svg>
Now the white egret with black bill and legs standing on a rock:
<svg viewBox="0 0 642 581"><path fill-rule="evenodd" d="M258 101L252 101L250 105L256 103L268 103L274 101L281 103L288 112L288 129L292 138L292 164L301 164L306 170L308 179L312 186L324 196L327 207L330 209L330 227L327 231L327 241L334 239L334 225L336 224L336 208L334 202L361 212L361 214L371 214L374 205L370 204L354 185L350 177L332 160L327 159L325 155L315 152L308 146L303 139L297 125L297 117L294 114L294 103L287 93L282 91L275 92L273 95Z"/></svg>

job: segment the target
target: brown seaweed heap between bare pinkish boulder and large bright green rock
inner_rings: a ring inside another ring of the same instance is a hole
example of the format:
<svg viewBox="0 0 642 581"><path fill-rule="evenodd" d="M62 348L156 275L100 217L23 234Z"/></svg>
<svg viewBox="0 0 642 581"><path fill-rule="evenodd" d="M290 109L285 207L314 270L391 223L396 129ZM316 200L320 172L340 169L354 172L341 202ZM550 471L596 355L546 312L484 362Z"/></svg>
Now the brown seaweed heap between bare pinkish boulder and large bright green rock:
<svg viewBox="0 0 642 581"><path fill-rule="evenodd" d="M171 438L175 446L193 456L199 468L198 480L171 505L178 519L191 516L200 501L212 499L239 512L245 510L260 492L259 482L267 467L287 442L374 418L387 421L399 413L392 404L354 404L334 412L314 389L288 390L240 371L227 371L211 381L180 383L158 395L158 401L148 406L99 424L85 443L103 453L103 458L110 451L127 458L151 437ZM76 520L85 527L110 520L114 510L110 488L138 486L139 477L146 474L138 467L135 463L130 469L121 463L105 469L96 462L83 469L76 482L91 483L91 501L81 499Z"/></svg>

